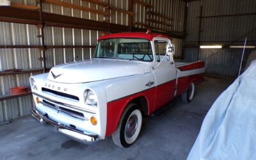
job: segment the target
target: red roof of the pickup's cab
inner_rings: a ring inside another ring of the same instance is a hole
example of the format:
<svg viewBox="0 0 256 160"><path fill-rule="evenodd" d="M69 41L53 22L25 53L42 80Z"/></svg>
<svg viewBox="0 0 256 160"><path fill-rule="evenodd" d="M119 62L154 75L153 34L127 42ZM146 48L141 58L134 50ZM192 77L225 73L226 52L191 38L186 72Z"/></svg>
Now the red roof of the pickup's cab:
<svg viewBox="0 0 256 160"><path fill-rule="evenodd" d="M113 33L109 35L100 36L98 41L111 39L111 38L145 38L147 40L152 41L152 39L155 37L170 39L169 36L159 34L159 33L127 32L127 33Z"/></svg>

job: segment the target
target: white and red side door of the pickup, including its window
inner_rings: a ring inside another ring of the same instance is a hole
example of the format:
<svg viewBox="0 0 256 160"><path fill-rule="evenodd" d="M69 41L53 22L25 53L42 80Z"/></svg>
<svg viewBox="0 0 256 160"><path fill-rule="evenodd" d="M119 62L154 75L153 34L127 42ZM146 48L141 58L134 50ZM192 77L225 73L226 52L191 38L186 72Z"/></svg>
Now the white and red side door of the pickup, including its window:
<svg viewBox="0 0 256 160"><path fill-rule="evenodd" d="M173 63L173 58L171 56L166 56L164 58L166 55L166 45L170 44L170 40L164 38L154 38L153 43L156 66L153 67L152 72L156 78L156 95L154 105L154 111L156 111L157 109L163 107L164 104L170 102L170 100L172 100L174 97L176 70Z"/></svg>

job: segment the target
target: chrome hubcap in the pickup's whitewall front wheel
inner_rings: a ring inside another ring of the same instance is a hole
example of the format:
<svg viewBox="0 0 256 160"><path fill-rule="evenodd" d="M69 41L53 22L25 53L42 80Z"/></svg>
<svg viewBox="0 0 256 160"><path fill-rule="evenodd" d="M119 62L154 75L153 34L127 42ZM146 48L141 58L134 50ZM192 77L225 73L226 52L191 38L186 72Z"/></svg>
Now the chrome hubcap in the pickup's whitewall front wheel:
<svg viewBox="0 0 256 160"><path fill-rule="evenodd" d="M138 116L131 115L125 125L125 136L127 138L132 138L132 136L134 136L137 130L137 127L138 127Z"/></svg>

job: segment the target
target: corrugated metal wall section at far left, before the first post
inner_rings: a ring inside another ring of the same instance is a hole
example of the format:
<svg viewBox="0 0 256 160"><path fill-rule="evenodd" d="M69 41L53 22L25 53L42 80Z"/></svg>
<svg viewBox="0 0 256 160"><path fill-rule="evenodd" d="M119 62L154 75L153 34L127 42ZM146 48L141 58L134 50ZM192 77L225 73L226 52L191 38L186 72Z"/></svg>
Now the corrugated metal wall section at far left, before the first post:
<svg viewBox="0 0 256 160"><path fill-rule="evenodd" d="M1 45L40 44L39 38L36 37L40 35L39 31L33 25L0 22L0 33ZM0 49L0 70L42 68L42 62L38 60L40 57L41 52L38 49ZM28 79L31 75L1 76L0 95L10 93L10 88L15 86L29 86ZM33 103L30 95L17 99L3 100L0 102L0 122L17 116L28 115L32 106Z"/></svg>

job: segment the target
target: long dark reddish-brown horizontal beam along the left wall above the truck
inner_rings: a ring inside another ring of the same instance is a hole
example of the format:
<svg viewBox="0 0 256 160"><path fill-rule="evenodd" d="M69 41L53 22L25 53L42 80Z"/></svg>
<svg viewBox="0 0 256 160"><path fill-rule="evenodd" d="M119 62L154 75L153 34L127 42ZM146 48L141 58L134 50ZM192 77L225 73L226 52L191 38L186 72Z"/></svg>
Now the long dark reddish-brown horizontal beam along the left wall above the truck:
<svg viewBox="0 0 256 160"><path fill-rule="evenodd" d="M81 19L76 17L68 17L65 15L56 15L53 13L44 13L45 26L61 27L61 28L76 28L76 29L91 29L96 31L110 31L111 33L129 31L128 26L120 24L112 24L108 28L109 23L100 22L97 20ZM22 10L18 8L11 7L1 7L0 10L0 21L4 22L17 22L22 24L40 24L39 12L34 10ZM143 28L134 28L132 31L147 31ZM165 32L166 35L172 38L183 38L180 33L175 33L174 31Z"/></svg>

